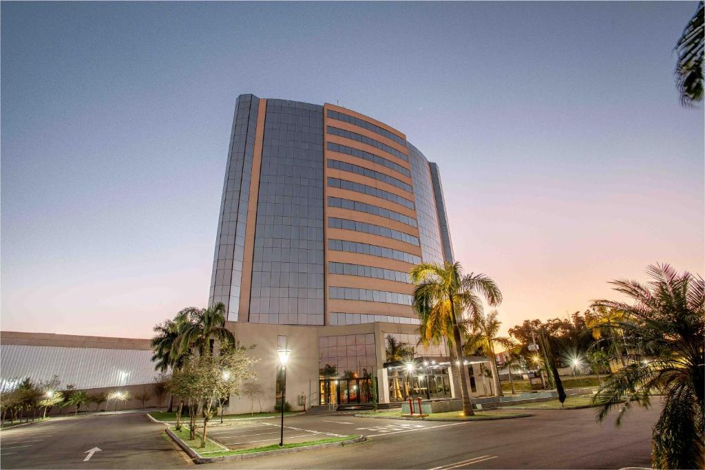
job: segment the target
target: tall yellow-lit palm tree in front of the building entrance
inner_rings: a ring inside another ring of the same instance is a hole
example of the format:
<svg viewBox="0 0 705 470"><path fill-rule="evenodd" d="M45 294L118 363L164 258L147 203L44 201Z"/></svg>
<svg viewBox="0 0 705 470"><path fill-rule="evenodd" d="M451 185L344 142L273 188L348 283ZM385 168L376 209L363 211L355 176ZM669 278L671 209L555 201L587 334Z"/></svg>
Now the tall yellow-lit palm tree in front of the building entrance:
<svg viewBox="0 0 705 470"><path fill-rule="evenodd" d="M467 390L470 381L467 367L461 366L462 333L467 326L462 312L470 315L482 311L482 297L491 306L502 302L502 293L494 280L482 273L463 275L460 263L422 263L410 272L414 289L414 309L421 320L421 339L425 342L439 342L448 339L450 357L455 368L455 376L460 378L462 412L466 416L474 414Z"/></svg>

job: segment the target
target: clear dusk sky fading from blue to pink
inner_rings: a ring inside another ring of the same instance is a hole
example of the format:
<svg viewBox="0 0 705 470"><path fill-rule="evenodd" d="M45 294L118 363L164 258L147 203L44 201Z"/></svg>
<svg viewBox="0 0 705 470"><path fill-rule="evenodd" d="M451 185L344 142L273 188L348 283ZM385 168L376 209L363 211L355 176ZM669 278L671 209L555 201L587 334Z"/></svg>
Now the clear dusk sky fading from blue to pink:
<svg viewBox="0 0 705 470"><path fill-rule="evenodd" d="M697 4L1 4L4 330L147 337L207 303L241 93L339 103L439 163L504 328L703 272Z"/></svg>

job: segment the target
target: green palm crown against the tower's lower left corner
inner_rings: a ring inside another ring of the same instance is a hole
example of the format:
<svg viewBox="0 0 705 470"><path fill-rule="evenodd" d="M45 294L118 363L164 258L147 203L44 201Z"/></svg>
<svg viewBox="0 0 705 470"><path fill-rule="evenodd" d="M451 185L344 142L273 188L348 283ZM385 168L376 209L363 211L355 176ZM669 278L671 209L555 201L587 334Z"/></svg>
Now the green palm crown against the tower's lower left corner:
<svg viewBox="0 0 705 470"><path fill-rule="evenodd" d="M207 309L188 307L176 314L176 350L180 354L193 349L198 350L200 354L210 354L212 339L235 345L235 335L225 327L225 311L223 302L218 302Z"/></svg>

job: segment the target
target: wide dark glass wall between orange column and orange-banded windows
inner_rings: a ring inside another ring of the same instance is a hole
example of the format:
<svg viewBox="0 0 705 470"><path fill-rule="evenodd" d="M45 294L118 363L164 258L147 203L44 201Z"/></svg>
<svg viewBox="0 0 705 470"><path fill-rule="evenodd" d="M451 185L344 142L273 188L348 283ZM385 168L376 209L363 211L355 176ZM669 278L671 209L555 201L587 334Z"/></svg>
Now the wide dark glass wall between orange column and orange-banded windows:
<svg viewBox="0 0 705 470"><path fill-rule="evenodd" d="M267 100L252 259L252 323L323 322L322 118L321 106ZM284 266L288 272L279 271Z"/></svg>

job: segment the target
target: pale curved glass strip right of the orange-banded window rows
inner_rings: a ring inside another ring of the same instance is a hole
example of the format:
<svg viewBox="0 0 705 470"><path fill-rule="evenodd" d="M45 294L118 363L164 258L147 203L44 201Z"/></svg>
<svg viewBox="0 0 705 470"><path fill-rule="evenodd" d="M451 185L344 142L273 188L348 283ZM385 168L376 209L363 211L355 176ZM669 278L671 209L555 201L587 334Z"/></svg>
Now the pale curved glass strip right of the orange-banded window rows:
<svg viewBox="0 0 705 470"><path fill-rule="evenodd" d="M443 245L436 212L431 173L426 157L409 144L409 163L414 180L414 200L419 221L419 241L424 261L443 264Z"/></svg>

